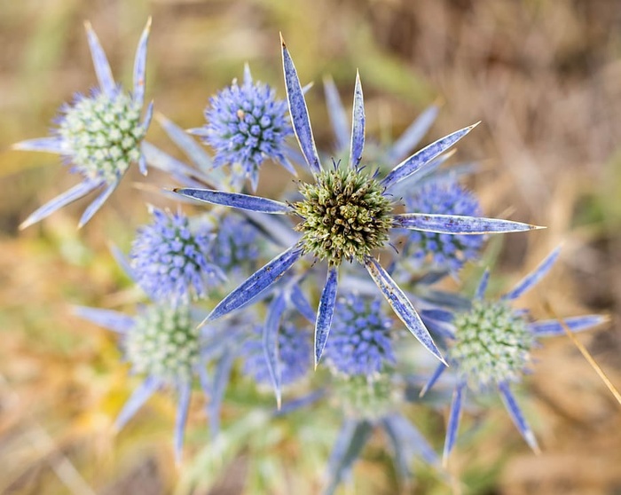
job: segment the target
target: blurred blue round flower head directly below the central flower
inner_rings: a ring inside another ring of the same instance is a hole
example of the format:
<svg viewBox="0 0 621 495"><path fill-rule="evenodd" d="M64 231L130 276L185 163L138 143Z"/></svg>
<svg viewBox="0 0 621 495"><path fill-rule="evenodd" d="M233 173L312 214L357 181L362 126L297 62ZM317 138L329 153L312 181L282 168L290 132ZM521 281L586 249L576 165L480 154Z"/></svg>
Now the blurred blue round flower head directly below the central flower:
<svg viewBox="0 0 621 495"><path fill-rule="evenodd" d="M380 373L385 365L395 362L391 326L379 300L348 295L336 303L326 357L340 373Z"/></svg>

